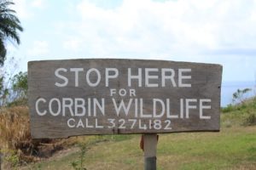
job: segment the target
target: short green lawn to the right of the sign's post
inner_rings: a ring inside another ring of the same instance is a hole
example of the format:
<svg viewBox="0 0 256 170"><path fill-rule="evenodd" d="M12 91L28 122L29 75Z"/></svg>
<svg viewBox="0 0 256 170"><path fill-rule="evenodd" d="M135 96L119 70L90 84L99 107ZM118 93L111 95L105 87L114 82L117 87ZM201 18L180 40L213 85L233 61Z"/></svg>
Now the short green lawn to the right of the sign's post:
<svg viewBox="0 0 256 170"><path fill-rule="evenodd" d="M249 151L256 145L255 133L256 127L239 127L220 133L178 134L173 139L168 135L158 153L172 162L166 161L163 169L229 169L247 161L256 167L256 153Z"/></svg>

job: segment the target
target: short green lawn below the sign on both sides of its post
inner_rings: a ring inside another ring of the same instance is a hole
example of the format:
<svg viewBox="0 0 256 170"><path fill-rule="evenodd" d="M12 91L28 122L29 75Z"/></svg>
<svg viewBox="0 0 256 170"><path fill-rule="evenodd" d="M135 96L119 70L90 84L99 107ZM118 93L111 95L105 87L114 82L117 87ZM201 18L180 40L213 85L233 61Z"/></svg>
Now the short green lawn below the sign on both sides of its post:
<svg viewBox="0 0 256 170"><path fill-rule="evenodd" d="M256 127L224 127L220 133L160 134L158 169L256 169ZM130 136L130 135L126 135ZM90 145L84 167L96 170L143 169L140 135ZM107 138L110 138L108 136ZM105 137L102 137L105 138ZM31 168L72 169L79 152L58 160L42 161Z"/></svg>

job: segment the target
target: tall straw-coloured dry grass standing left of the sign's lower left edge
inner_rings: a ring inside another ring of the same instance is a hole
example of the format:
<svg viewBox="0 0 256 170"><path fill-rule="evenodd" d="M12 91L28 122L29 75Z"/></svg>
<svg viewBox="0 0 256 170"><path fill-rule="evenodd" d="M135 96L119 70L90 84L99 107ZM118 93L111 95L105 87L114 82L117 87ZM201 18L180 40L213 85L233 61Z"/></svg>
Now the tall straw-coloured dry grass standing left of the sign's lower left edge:
<svg viewBox="0 0 256 170"><path fill-rule="evenodd" d="M38 141L32 140L29 129L27 106L1 108L0 150L10 164L33 161Z"/></svg>

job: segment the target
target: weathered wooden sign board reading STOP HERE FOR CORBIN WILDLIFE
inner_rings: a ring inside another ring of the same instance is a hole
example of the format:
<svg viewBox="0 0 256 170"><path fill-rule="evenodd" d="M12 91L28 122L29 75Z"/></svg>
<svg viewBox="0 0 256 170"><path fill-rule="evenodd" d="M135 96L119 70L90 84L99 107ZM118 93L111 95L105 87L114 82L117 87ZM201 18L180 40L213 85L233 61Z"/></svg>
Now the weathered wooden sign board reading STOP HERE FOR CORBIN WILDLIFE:
<svg viewBox="0 0 256 170"><path fill-rule="evenodd" d="M140 59L28 63L32 138L219 131L222 66Z"/></svg>

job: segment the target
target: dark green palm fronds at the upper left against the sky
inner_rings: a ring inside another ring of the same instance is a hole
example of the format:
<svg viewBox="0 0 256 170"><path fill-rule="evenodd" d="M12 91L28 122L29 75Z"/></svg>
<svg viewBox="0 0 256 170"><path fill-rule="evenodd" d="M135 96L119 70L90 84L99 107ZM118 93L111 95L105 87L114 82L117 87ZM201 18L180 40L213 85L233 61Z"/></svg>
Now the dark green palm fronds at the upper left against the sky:
<svg viewBox="0 0 256 170"><path fill-rule="evenodd" d="M18 31L23 31L20 26L20 20L15 16L15 10L9 8L9 5L15 3L8 0L0 0L0 65L6 56L5 43L7 40L20 44Z"/></svg>

